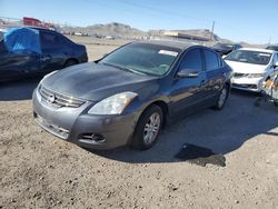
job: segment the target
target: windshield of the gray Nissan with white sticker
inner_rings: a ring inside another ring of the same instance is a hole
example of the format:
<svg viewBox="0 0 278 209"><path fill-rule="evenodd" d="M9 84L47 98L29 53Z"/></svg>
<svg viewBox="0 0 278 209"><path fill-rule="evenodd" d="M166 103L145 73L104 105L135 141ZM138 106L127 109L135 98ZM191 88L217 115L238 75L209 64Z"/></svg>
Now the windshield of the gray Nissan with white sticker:
<svg viewBox="0 0 278 209"><path fill-rule="evenodd" d="M108 54L99 63L135 73L162 76L167 73L180 50L150 43L127 44Z"/></svg>

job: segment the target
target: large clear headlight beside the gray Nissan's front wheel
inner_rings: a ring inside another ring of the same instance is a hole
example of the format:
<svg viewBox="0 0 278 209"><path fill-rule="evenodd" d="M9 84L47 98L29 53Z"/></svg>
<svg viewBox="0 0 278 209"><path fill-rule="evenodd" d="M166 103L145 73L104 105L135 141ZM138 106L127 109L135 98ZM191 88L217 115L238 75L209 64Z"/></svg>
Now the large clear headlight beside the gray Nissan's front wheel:
<svg viewBox="0 0 278 209"><path fill-rule="evenodd" d="M125 108L137 97L135 92L122 92L96 103L88 113L90 115L120 115Z"/></svg>

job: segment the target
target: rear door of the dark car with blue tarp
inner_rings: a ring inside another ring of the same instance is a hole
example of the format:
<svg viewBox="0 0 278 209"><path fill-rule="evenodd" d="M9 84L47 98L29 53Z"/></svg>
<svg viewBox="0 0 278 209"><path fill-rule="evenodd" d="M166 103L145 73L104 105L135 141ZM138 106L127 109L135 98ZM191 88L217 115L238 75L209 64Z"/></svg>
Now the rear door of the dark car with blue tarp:
<svg viewBox="0 0 278 209"><path fill-rule="evenodd" d="M61 69L67 60L68 46L64 40L52 31L41 30L41 70L50 72Z"/></svg>

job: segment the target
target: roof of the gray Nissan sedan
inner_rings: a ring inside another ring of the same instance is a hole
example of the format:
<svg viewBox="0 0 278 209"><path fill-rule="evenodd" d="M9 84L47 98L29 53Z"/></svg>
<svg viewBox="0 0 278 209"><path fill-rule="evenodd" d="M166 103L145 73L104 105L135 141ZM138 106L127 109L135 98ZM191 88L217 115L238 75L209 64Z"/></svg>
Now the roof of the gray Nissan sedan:
<svg viewBox="0 0 278 209"><path fill-rule="evenodd" d="M138 42L139 43L165 46L165 47L169 47L169 48L177 48L180 50L186 50L187 48L192 47L192 46L202 47L202 46L197 44L197 43L188 43L188 42L177 41L177 40L147 40L147 41L138 41Z"/></svg>

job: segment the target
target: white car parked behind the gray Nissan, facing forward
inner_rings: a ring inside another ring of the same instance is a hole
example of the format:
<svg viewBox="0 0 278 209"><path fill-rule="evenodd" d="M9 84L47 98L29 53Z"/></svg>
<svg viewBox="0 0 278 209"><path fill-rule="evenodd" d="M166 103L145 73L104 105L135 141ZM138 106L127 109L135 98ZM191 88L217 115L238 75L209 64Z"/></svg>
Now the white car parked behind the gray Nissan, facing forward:
<svg viewBox="0 0 278 209"><path fill-rule="evenodd" d="M264 77L278 70L278 52L268 49L242 48L228 54L225 61L234 71L235 89L259 92Z"/></svg>

